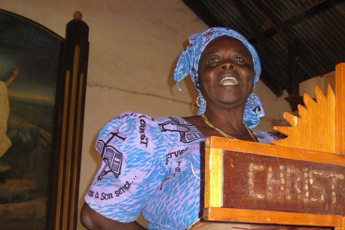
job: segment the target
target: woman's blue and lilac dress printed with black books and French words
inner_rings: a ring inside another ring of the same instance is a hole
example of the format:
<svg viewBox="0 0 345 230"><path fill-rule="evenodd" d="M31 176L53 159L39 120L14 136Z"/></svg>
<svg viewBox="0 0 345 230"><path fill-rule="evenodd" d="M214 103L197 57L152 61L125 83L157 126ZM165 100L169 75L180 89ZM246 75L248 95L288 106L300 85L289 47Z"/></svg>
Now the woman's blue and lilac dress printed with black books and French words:
<svg viewBox="0 0 345 230"><path fill-rule="evenodd" d="M276 133L254 131L262 143ZM99 133L103 161L85 196L89 206L120 222L140 211L148 229L185 229L202 216L205 136L179 117L125 112Z"/></svg>

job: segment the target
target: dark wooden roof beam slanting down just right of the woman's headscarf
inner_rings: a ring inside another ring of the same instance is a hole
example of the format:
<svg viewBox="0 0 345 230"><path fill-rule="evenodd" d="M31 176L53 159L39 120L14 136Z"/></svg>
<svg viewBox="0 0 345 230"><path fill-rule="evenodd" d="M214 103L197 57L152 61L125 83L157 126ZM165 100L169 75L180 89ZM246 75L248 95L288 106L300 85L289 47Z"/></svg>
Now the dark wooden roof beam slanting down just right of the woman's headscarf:
<svg viewBox="0 0 345 230"><path fill-rule="evenodd" d="M287 77L287 74L280 66L279 61L272 53L270 46L268 45L267 41L264 39L263 35L261 34L260 30L258 29L257 25L255 24L253 18L250 16L250 13L247 10L245 4L243 4L242 0L232 0L233 5L235 6L236 10L246 23L247 27L249 28L250 33L255 37L256 41L258 42L258 46L261 48L263 53L266 56L266 59L270 63L270 66L275 71L275 75L280 80L280 84L285 86L286 91L291 94L292 87L291 82Z"/></svg>

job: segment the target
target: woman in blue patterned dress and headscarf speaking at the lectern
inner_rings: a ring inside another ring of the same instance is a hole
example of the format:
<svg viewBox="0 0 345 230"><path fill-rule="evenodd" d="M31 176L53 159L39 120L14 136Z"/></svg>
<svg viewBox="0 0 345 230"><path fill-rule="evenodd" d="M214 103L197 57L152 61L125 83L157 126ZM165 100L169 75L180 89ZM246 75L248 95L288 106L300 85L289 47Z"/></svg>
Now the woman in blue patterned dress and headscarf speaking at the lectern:
<svg viewBox="0 0 345 230"><path fill-rule="evenodd" d="M252 93L260 75L254 47L225 28L189 40L174 79L190 74L199 115L126 112L102 129L96 149L103 163L81 213L87 228L140 229L142 211L149 229L185 229L203 212L205 136L270 143L267 133L249 129L264 115Z"/></svg>

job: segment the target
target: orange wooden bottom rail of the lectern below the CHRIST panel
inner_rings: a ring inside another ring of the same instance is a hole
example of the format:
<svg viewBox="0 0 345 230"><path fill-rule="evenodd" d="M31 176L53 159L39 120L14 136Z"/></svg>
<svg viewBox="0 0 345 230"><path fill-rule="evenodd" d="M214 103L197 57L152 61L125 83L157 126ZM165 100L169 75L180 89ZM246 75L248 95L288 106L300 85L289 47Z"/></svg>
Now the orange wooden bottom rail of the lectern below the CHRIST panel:
<svg viewBox="0 0 345 230"><path fill-rule="evenodd" d="M205 220L277 223L307 226L342 226L342 217L335 215L286 213L263 210L246 210L231 208L204 208Z"/></svg>

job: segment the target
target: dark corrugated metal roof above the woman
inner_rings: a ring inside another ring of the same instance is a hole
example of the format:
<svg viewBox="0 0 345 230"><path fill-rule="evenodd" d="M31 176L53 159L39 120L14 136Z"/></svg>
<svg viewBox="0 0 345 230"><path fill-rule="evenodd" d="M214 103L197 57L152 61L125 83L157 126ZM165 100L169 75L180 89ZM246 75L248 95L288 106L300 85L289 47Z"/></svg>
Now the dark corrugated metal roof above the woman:
<svg viewBox="0 0 345 230"><path fill-rule="evenodd" d="M242 33L248 39L254 37L246 26L245 20L234 6L233 1L183 1L210 27L228 27ZM260 31L271 28L271 24L257 12L250 3L250 0L234 1L240 1L246 6L249 15ZM252 0L252 2L264 12L271 14L273 18L277 19L282 25L288 28L289 32L293 34L299 43L299 50L304 47L307 51L305 56L299 58L298 82L327 72L332 72L337 63L345 62L344 1ZM318 9L314 7L316 5L319 6ZM312 10L305 11L308 8L312 8ZM243 9L240 11L242 10ZM303 11L305 11L304 14ZM270 30L272 31L272 28ZM289 76L288 41L281 34L275 30L273 31L273 34L271 33L269 36L265 36L266 33L262 34L264 34L265 40L280 66L286 72L286 75ZM253 44L260 56L263 69L274 73L270 60L267 60L263 50L258 46L255 40ZM308 57L319 62L321 65L316 68L307 60ZM268 79L265 81L265 78L268 78L268 76L263 74L261 78L277 95L282 92L282 89L286 89L287 87L282 83L281 76L276 76L276 74L273 76L273 79L269 79L268 82Z"/></svg>

